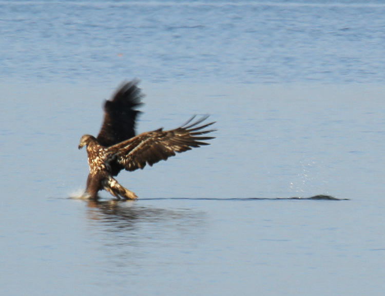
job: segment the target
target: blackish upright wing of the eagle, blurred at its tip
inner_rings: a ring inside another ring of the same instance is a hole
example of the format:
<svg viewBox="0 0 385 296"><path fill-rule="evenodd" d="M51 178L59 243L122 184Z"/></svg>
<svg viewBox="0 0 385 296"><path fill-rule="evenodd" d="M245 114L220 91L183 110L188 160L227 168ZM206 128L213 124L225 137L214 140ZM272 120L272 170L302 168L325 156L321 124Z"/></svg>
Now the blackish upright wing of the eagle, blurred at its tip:
<svg viewBox="0 0 385 296"><path fill-rule="evenodd" d="M111 146L135 136L135 121L143 97L138 81L124 83L104 104L104 121L97 137L103 146Z"/></svg>

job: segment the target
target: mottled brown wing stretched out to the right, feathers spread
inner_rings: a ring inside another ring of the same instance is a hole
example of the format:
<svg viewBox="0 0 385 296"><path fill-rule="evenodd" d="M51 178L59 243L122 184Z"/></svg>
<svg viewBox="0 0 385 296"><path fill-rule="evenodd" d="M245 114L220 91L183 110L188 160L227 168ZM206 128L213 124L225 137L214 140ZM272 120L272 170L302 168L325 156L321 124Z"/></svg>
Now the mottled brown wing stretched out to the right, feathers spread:
<svg viewBox="0 0 385 296"><path fill-rule="evenodd" d="M215 122L199 125L207 117L205 116L191 123L195 118L194 116L175 130L163 131L160 128L156 131L140 134L109 147L108 151L113 153L114 161L127 171L143 169L146 163L152 165L162 159L166 160L168 157L174 156L176 152L180 153L190 150L191 147L209 145L202 141L214 139L214 137L201 135L215 131L203 130Z"/></svg>

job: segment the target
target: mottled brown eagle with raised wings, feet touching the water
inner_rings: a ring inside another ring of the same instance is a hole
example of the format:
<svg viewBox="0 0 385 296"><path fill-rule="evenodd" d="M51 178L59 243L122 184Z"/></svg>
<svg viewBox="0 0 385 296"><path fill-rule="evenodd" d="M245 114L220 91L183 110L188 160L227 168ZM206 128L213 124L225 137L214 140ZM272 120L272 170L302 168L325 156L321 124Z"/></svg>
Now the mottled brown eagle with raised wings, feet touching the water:
<svg viewBox="0 0 385 296"><path fill-rule="evenodd" d="M80 139L79 149L86 146L88 156L89 174L83 194L87 198L98 198L98 192L104 189L118 199L136 199L137 196L113 176L123 169L143 169L146 163L152 165L176 152L208 145L203 141L214 139L202 136L214 131L205 128L215 122L201 125L208 116L195 121L193 116L175 130L159 128L136 136L135 122L140 113L136 108L142 104L143 97L137 84L136 80L124 83L112 99L105 102L104 121L96 138L84 135Z"/></svg>

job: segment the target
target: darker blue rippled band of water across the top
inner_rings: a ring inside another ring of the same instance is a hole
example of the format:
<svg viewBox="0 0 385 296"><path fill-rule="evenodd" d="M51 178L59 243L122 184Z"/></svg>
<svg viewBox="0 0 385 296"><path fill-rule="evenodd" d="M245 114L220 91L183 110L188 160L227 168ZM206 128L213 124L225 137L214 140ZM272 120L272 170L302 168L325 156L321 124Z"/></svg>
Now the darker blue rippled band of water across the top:
<svg viewBox="0 0 385 296"><path fill-rule="evenodd" d="M2 81L381 83L381 1L0 2Z"/></svg>

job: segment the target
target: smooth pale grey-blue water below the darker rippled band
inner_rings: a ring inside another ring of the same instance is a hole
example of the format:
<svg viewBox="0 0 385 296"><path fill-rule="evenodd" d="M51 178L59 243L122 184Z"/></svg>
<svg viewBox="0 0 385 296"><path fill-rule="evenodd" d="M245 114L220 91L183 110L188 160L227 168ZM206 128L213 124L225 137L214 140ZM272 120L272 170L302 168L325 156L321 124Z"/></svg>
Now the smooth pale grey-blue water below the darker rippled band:
<svg viewBox="0 0 385 296"><path fill-rule="evenodd" d="M196 86L180 97L143 83L139 131L207 111L218 131L122 172L134 202L69 198L85 186L77 144L98 132L107 90L3 87L30 99L2 117L6 294L358 295L369 280L381 294L383 89ZM276 199L316 194L350 200Z"/></svg>

